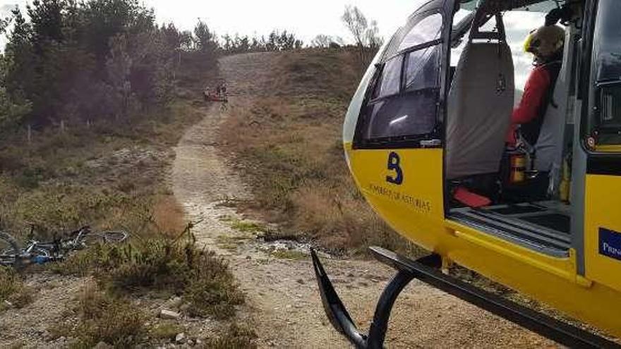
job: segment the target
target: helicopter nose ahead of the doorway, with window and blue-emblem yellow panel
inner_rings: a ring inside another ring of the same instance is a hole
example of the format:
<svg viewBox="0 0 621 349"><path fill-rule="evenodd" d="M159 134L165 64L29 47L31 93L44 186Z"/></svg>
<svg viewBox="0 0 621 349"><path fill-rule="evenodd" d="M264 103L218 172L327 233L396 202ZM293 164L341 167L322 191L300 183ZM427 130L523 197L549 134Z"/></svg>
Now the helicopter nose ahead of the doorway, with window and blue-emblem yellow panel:
<svg viewBox="0 0 621 349"><path fill-rule="evenodd" d="M454 2L428 1L409 17L368 68L346 116L344 147L358 188L401 231L444 219L440 121Z"/></svg>

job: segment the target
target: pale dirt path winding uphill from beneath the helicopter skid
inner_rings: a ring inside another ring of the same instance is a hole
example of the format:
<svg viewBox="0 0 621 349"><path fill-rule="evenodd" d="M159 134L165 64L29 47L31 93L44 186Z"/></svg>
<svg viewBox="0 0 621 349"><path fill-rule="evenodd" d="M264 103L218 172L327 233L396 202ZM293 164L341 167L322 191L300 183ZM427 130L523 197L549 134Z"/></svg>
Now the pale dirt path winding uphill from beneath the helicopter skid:
<svg viewBox="0 0 621 349"><path fill-rule="evenodd" d="M201 243L230 260L248 294L261 348L347 348L323 314L308 258L275 258L277 244L258 243L231 226L240 217L227 200L249 199L248 189L217 152L217 129L229 113L263 91L272 54L229 56L220 62L232 92L229 111L205 109L176 147L173 190ZM245 229L242 229L245 230ZM368 328L375 302L392 270L378 262L325 259L352 317ZM390 348L541 348L553 343L418 281L402 293L387 333Z"/></svg>

